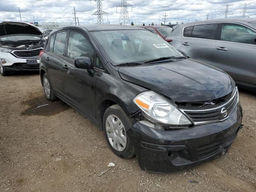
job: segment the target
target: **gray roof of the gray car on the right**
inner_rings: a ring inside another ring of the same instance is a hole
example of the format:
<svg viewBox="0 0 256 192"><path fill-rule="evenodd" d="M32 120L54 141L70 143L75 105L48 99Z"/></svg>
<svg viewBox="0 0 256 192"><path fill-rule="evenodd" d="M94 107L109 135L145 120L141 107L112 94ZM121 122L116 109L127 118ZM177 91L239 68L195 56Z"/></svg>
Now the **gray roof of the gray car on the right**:
<svg viewBox="0 0 256 192"><path fill-rule="evenodd" d="M210 19L210 20L203 20L203 21L196 21L182 24L183 26L189 26L194 24L202 24L202 23L213 23L213 22L240 22L240 23L248 23L256 21L256 18L222 18L222 19Z"/></svg>

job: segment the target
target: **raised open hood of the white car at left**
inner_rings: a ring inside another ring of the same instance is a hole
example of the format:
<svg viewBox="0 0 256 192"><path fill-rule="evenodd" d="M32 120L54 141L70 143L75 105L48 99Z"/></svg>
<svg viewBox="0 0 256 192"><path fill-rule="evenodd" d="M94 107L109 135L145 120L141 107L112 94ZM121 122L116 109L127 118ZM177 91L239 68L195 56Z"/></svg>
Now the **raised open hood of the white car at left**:
<svg viewBox="0 0 256 192"><path fill-rule="evenodd" d="M38 27L26 22L2 22L0 23L0 37L6 35L29 34L42 36Z"/></svg>

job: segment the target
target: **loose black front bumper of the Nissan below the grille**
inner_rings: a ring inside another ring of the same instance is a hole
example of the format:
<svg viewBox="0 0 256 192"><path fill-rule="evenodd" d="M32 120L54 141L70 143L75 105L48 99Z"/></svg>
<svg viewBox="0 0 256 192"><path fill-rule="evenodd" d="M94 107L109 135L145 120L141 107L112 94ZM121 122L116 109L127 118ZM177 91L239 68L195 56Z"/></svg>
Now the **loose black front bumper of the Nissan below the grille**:
<svg viewBox="0 0 256 192"><path fill-rule="evenodd" d="M237 105L222 122L172 131L152 129L137 122L127 133L142 169L175 172L225 154L241 127L241 112Z"/></svg>

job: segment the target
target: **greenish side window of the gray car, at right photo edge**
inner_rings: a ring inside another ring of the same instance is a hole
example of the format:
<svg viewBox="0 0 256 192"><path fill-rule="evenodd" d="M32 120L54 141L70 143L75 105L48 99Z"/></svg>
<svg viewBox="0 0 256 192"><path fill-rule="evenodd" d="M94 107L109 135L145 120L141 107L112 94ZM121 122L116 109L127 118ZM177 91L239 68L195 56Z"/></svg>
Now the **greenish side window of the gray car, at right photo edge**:
<svg viewBox="0 0 256 192"><path fill-rule="evenodd" d="M256 32L242 25L223 24L221 40L255 45Z"/></svg>

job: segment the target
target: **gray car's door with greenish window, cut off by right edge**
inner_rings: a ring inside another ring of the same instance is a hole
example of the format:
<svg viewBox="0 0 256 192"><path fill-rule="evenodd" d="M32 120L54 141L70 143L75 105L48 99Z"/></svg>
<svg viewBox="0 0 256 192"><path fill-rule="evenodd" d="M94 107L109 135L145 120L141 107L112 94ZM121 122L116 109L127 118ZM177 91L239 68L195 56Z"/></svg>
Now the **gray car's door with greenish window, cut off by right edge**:
<svg viewBox="0 0 256 192"><path fill-rule="evenodd" d="M256 84L256 31L235 23L222 23L214 62L234 80Z"/></svg>

